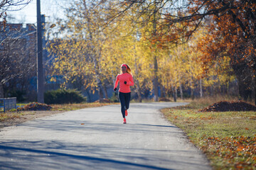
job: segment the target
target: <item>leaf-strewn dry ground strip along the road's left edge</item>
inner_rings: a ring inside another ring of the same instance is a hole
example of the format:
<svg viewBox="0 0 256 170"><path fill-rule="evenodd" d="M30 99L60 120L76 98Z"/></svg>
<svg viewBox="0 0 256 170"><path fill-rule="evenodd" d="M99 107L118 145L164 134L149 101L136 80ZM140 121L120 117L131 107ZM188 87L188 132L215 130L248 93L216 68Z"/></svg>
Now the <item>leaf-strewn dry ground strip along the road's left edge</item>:
<svg viewBox="0 0 256 170"><path fill-rule="evenodd" d="M21 112L6 112L6 118L0 121L0 128L7 126L18 125L29 120L35 120L48 115L63 113L64 111L21 111ZM1 131L1 129L0 129Z"/></svg>

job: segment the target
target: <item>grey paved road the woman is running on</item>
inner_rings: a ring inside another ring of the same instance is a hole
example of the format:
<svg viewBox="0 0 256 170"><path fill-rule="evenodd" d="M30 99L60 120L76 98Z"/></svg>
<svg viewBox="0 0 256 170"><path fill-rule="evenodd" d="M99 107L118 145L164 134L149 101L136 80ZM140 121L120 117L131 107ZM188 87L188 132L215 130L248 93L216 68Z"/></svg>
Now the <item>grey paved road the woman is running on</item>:
<svg viewBox="0 0 256 170"><path fill-rule="evenodd" d="M0 169L210 169L204 155L159 112L183 104L132 103L127 125L114 105L4 128Z"/></svg>

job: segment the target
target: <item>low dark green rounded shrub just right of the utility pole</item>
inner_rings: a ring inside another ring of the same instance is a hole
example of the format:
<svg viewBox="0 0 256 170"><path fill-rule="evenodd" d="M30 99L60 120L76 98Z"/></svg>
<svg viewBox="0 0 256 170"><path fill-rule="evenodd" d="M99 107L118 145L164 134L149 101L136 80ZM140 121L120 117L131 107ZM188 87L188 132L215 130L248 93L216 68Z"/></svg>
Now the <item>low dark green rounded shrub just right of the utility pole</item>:
<svg viewBox="0 0 256 170"><path fill-rule="evenodd" d="M47 104L81 103L86 101L86 98L75 89L58 89L47 91L44 95L44 101Z"/></svg>

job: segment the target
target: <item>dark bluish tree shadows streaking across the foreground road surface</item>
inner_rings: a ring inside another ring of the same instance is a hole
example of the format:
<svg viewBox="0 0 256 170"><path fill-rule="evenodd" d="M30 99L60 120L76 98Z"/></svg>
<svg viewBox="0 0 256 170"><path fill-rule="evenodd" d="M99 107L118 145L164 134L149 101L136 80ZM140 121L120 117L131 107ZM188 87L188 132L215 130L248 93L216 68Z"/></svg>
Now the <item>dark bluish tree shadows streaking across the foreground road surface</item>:
<svg viewBox="0 0 256 170"><path fill-rule="evenodd" d="M155 161L159 159L158 155L134 154L129 149L127 153L121 153L118 152L120 149L126 148L107 145L102 147L75 145L56 141L0 142L0 169L33 169L35 167L36 169L120 169L120 167L122 169L165 169L160 166L136 163L139 160L145 161L145 159L146 162ZM161 150L160 152L168 151ZM119 160L112 159L113 157L119 157ZM19 164L15 164L17 161ZM179 161L169 160L169 163L186 164L181 159Z"/></svg>

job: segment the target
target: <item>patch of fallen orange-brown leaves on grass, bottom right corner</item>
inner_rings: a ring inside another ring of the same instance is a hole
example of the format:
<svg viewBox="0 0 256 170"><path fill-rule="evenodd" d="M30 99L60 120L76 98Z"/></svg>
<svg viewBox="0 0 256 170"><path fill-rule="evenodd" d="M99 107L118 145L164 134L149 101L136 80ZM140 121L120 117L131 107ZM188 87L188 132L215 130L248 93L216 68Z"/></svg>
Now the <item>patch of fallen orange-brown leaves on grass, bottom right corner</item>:
<svg viewBox="0 0 256 170"><path fill-rule="evenodd" d="M201 142L201 149L211 157L220 157L220 162L225 161L225 166L216 169L230 166L233 169L253 169L256 166L256 136L208 137Z"/></svg>

